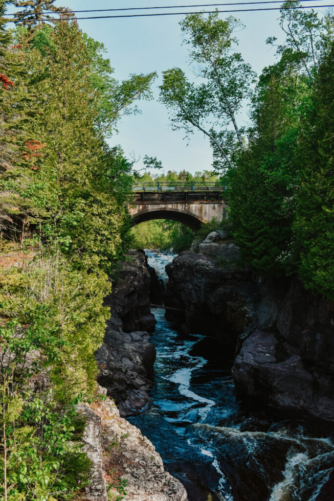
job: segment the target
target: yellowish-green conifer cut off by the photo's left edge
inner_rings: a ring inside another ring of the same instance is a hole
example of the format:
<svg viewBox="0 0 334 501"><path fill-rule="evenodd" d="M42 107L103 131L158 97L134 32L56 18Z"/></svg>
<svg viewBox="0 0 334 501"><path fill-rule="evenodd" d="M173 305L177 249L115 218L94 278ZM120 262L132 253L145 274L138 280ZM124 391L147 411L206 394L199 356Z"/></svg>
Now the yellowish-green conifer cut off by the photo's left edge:
<svg viewBox="0 0 334 501"><path fill-rule="evenodd" d="M2 17L8 2L0 1L0 231L15 240L20 239L29 204L20 197L14 179L21 177L17 168L22 161L22 148L31 138L29 124L32 93L28 89L22 44L15 44L11 31L6 30ZM15 45L12 45L12 44ZM22 182L29 184L29 171Z"/></svg>

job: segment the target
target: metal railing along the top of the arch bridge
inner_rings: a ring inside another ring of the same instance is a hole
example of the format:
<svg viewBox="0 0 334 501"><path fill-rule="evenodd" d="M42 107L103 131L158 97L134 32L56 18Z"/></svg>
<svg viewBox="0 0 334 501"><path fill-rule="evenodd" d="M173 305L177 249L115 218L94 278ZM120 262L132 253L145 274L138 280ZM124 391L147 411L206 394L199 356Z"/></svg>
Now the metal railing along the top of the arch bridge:
<svg viewBox="0 0 334 501"><path fill-rule="evenodd" d="M225 191L222 181L138 181L132 191Z"/></svg>

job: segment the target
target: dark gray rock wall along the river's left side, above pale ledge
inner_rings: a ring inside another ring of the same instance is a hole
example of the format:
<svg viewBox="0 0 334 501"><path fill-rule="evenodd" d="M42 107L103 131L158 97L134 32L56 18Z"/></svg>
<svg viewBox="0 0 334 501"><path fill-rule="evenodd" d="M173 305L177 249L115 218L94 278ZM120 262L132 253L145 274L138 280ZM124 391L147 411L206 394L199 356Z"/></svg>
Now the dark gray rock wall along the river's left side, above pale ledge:
<svg viewBox="0 0 334 501"><path fill-rule="evenodd" d="M150 313L150 275L143 252L130 250L122 263L113 293L107 298L111 318L102 346L96 351L98 382L118 405L122 416L138 414L151 403L148 390L155 347L148 332L156 320Z"/></svg>

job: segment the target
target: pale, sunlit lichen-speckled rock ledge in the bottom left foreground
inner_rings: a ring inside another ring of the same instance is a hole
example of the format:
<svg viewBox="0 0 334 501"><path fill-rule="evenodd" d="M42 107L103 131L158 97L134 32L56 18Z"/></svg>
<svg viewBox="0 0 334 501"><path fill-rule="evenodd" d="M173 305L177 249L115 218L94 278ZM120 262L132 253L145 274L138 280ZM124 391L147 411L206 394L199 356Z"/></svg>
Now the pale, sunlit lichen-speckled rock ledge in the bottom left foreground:
<svg viewBox="0 0 334 501"><path fill-rule="evenodd" d="M78 411L86 420L83 450L92 461L92 482L83 499L117 498L117 487L126 483L124 501L187 501L185 488L164 470L154 445L120 416L112 400L80 404Z"/></svg>

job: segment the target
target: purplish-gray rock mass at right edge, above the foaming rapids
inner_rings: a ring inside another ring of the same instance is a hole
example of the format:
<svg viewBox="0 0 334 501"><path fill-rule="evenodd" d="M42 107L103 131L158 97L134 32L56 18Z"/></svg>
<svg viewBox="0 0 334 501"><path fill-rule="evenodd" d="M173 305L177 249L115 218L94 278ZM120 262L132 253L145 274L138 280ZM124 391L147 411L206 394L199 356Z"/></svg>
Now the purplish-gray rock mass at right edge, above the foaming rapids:
<svg viewBox="0 0 334 501"><path fill-rule="evenodd" d="M275 407L334 420L334 303L296 280L283 297L279 285L271 291L258 308L259 328L235 359L234 379Z"/></svg>

